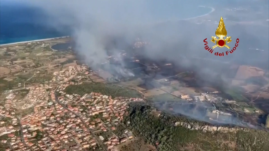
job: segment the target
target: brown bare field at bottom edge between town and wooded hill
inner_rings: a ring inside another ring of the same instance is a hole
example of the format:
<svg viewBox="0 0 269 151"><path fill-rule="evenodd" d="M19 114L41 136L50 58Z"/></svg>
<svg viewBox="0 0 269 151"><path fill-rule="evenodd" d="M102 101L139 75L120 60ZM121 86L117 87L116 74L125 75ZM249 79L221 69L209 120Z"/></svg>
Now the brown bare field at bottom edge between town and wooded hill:
<svg viewBox="0 0 269 151"><path fill-rule="evenodd" d="M157 149L146 144L141 138L136 138L115 147L115 151L156 151Z"/></svg>

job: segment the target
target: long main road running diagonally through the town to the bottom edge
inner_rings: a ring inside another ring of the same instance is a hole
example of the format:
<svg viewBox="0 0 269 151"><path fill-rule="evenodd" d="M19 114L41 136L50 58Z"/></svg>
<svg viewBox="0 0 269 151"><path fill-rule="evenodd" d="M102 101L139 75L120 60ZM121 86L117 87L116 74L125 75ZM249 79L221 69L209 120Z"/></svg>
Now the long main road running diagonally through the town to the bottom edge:
<svg viewBox="0 0 269 151"><path fill-rule="evenodd" d="M57 88L58 88L59 86L60 86L60 85L58 85ZM78 115L77 113L73 112L73 111L70 110L69 108L67 108L65 104L62 104L62 102L60 102L60 101L58 100L58 97L56 96L56 93L55 93L56 90L57 90L57 88L54 90L55 101L56 101L58 104L60 104L63 108L65 108L66 110L68 110L69 112L71 112L71 113L73 113L75 116L77 116L77 117L81 120L81 122L84 124L84 126L87 128L87 130L91 133L91 135L94 136L94 138L95 138L95 140L97 141L97 143L98 143L100 146L102 146L102 148L104 148L104 150L108 151L107 148L106 148L106 146L104 146L104 144L99 140L99 137L96 136L96 135L92 132L92 130L91 130L91 129L89 128L89 126L84 122L84 120L81 118L81 116Z"/></svg>

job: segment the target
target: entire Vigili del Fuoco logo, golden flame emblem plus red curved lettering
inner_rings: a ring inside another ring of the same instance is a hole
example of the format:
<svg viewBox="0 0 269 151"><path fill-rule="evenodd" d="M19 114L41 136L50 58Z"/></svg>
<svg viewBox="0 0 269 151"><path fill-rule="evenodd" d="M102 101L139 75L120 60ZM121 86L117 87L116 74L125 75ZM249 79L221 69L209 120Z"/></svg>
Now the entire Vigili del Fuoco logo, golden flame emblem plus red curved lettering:
<svg viewBox="0 0 269 151"><path fill-rule="evenodd" d="M212 38L211 41L216 44L212 48L210 48L208 46L207 38L205 38L203 40L204 45L205 45L205 50L207 50L209 53L213 53L213 51L214 51L213 49L216 47L219 47L219 48L226 47L226 48L230 49L230 47L227 45L227 43L230 43L232 41L232 39L231 39L231 36L229 36L229 37L227 36L227 31L225 29L225 24L223 22L222 17L220 17L219 26L217 27L215 34L218 37L218 39L216 36L215 37L211 36L211 38ZM234 47L230 51L228 50L225 53L224 52L215 52L214 54L217 56L224 56L225 54L228 55L229 53L232 54L236 50L236 48L238 47L238 43L239 43L239 39L237 38Z"/></svg>

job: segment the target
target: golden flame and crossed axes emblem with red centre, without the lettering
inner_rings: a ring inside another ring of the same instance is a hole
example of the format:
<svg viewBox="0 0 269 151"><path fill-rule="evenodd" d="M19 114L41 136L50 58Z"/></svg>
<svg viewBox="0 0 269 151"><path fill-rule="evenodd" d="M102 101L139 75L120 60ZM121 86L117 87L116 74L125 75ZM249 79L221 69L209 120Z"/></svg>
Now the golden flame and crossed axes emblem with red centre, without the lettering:
<svg viewBox="0 0 269 151"><path fill-rule="evenodd" d="M217 27L217 30L215 32L216 36L219 37L219 39L217 39L216 37L211 37L211 41L213 43L216 43L215 41L217 41L216 45L214 45L212 47L212 49L214 49L215 47L226 47L228 49L230 49L230 47L228 45L226 45L226 41L227 43L230 43L232 41L231 36L230 37L226 37L226 39L223 39L226 35L227 35L227 31L225 29L225 24L224 24L224 21L223 21L223 18L220 17L220 20L219 20L219 25Z"/></svg>

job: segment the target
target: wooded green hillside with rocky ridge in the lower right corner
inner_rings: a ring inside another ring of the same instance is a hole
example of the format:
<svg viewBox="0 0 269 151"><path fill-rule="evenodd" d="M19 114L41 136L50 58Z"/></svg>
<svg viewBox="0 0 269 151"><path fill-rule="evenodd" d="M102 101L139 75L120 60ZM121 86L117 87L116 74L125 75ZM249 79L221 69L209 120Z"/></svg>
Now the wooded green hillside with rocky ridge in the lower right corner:
<svg viewBox="0 0 269 151"><path fill-rule="evenodd" d="M269 132L237 127L216 127L180 116L159 114L150 106L130 105L128 126L158 150L249 150L269 148ZM126 124L128 125L128 124Z"/></svg>

